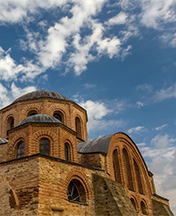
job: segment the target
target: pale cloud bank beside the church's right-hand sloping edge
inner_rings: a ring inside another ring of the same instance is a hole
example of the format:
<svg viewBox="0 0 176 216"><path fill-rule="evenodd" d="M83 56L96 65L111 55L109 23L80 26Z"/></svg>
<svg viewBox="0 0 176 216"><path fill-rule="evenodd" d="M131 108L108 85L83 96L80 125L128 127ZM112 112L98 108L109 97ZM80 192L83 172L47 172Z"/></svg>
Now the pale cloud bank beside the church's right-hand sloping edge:
<svg viewBox="0 0 176 216"><path fill-rule="evenodd" d="M172 210L176 209L176 139L168 134L158 134L151 140L152 147L139 146L146 158L149 170L154 173L157 193L170 199Z"/></svg>

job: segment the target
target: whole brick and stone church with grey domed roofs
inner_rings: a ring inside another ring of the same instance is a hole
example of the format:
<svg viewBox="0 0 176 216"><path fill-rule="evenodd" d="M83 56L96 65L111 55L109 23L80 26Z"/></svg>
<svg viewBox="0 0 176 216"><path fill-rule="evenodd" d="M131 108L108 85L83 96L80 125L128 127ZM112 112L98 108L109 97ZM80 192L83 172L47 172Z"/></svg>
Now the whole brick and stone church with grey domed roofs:
<svg viewBox="0 0 176 216"><path fill-rule="evenodd" d="M0 216L173 216L134 141L88 140L86 110L62 94L25 94L0 119Z"/></svg>

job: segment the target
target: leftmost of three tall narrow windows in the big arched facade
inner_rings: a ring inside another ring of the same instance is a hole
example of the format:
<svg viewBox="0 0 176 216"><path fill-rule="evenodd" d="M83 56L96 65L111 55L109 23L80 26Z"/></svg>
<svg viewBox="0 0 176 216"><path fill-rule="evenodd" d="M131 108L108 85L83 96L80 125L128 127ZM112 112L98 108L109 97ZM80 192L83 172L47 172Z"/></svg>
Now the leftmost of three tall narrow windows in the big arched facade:
<svg viewBox="0 0 176 216"><path fill-rule="evenodd" d="M117 149L115 149L113 151L113 167L114 167L115 180L122 184L121 175L120 175L119 157L118 157Z"/></svg>

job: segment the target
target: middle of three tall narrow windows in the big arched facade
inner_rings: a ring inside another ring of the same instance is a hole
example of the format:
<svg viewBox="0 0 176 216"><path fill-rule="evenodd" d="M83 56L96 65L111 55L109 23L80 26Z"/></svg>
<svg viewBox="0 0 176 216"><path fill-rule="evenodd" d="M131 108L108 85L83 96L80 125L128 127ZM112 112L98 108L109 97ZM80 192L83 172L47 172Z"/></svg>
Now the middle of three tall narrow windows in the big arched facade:
<svg viewBox="0 0 176 216"><path fill-rule="evenodd" d="M128 189L134 190L129 156L125 148L123 149L123 162L125 166L124 168L125 168L125 175L126 175Z"/></svg>

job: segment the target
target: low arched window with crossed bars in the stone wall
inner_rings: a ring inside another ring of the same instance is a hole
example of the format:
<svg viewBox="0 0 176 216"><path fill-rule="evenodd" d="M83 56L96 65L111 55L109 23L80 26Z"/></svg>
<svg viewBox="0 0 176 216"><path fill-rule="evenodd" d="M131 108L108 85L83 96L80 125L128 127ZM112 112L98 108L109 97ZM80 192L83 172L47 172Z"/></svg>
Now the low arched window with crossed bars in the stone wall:
<svg viewBox="0 0 176 216"><path fill-rule="evenodd" d="M86 203L85 190L81 182L77 179L73 179L67 189L67 197L71 202Z"/></svg>

